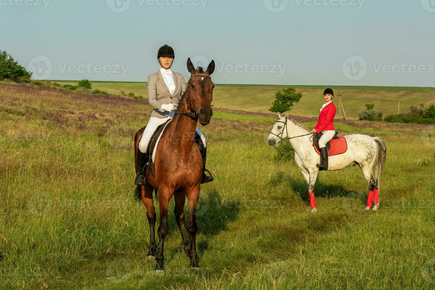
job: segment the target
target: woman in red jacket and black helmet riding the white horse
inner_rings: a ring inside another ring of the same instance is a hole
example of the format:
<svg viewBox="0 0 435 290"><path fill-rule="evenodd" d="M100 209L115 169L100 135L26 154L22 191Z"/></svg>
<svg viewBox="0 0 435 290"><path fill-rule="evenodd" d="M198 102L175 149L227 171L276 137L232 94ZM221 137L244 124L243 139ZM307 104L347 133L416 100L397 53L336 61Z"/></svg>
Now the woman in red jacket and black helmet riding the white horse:
<svg viewBox="0 0 435 290"><path fill-rule="evenodd" d="M317 164L319 170L328 170L328 150L326 149L326 143L328 143L335 135L334 117L337 109L332 102L334 97L334 91L330 88L326 89L323 93L326 103L320 109L320 116L318 118L317 125L311 132L322 132L322 136L319 139L319 150L321 154L321 163Z"/></svg>

